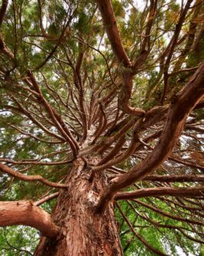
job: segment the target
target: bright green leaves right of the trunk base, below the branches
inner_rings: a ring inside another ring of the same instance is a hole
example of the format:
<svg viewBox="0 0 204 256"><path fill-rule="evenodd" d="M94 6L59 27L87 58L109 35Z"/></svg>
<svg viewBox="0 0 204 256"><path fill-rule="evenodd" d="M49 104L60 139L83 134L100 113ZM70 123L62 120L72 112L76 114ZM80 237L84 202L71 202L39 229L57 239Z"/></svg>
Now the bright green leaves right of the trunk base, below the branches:
<svg viewBox="0 0 204 256"><path fill-rule="evenodd" d="M148 203L146 200L142 201ZM159 209L169 212L169 207L166 206L166 203L155 199L152 199L152 203L156 203L156 206L159 207ZM179 230L173 228L169 229L168 227L156 227L156 224L149 224L149 221L145 219L147 218L149 220L155 221L160 225L170 225L172 227L176 226L183 228L184 230L188 229L188 224L162 217L158 213L142 207L138 203L134 203L132 205L135 206L135 210L137 213L139 213L139 216L135 215L135 212L131 207L129 207L127 203L120 201L122 211L125 213L128 220L132 223L135 232L144 237L145 241L150 246L158 249L159 251L168 251L169 255L179 256L178 250L182 251L181 247L184 248L185 252L188 252L189 254L193 254L195 256L202 255L202 246L196 243L192 243L192 241L189 241L186 237L183 237ZM118 209L115 210L115 214L118 220L120 237L125 256L133 256L135 254L157 255L146 249L141 241L135 239L135 236L132 234L129 226L125 223L125 220L123 220Z"/></svg>

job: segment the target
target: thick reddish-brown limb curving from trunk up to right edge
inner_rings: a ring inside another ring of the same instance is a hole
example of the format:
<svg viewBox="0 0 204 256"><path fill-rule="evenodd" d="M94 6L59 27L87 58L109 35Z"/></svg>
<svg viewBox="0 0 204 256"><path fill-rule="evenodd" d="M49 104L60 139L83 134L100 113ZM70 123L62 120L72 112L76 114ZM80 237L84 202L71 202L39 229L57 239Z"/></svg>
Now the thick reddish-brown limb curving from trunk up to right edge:
<svg viewBox="0 0 204 256"><path fill-rule="evenodd" d="M142 180L145 176L152 173L162 162L168 159L175 147L179 135L182 132L183 125L190 111L196 104L202 100L204 94L204 62L199 65L196 73L192 76L169 108L166 118L166 124L162 131L161 138L147 156L139 165L133 167L129 172L112 179L112 184L107 187L99 200L98 210L101 211L112 199L112 196L122 188Z"/></svg>

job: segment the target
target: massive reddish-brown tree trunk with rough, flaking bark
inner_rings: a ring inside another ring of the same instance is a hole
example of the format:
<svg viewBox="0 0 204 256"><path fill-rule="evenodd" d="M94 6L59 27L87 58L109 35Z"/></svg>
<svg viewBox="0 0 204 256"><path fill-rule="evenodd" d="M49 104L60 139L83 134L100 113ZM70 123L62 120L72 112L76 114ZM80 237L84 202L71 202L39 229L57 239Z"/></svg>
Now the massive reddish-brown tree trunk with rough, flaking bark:
<svg viewBox="0 0 204 256"><path fill-rule="evenodd" d="M99 193L106 179L97 173L89 181L90 169L77 159L66 180L52 213L61 231L58 237L42 237L35 256L120 256L122 248L112 203L104 213L95 213Z"/></svg>

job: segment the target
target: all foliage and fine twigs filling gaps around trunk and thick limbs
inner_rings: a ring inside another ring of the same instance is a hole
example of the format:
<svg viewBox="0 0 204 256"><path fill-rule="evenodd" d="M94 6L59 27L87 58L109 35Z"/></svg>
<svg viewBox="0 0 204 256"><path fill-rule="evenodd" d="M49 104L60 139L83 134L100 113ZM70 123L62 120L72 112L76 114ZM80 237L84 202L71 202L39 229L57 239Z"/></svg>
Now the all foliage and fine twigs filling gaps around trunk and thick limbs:
<svg viewBox="0 0 204 256"><path fill-rule="evenodd" d="M83 131L82 109L79 106L79 98L82 94L85 108L91 109L89 104L92 100L92 105L96 105L99 99L101 100L112 91L114 92L113 104L108 111L111 114L111 118L108 120L110 126L115 121L115 115L112 112L118 107L116 96L118 96L122 86L122 72L132 71L130 67L123 67L122 64L118 64L94 1L45 0L41 3L42 24L37 1L8 1L8 9L0 31L2 38L5 40L5 45L14 55L14 59L12 59L10 56L2 54L1 50L0 157L8 160L14 159L17 162L25 160L59 162L66 161L70 158L70 155L72 156L72 154L69 154L71 152L69 143L63 140L60 141L62 134L55 127L40 97L35 97L36 95L33 94L35 88L31 84L26 84L25 77L28 75L28 70L32 70L43 97L55 109L59 117L65 121L65 125L69 127L70 131L73 131L78 142L82 139ZM166 58L163 59L163 54L166 53L166 47L171 42L181 11L178 1L158 0L156 18L150 32L145 35L149 20L149 3L148 1L112 0L112 8L115 12L122 44L132 63L139 57L144 39L147 39L145 50L151 50L139 70L135 71L132 95L129 101L132 107L143 108L145 111L161 104L161 95L164 90L163 61L166 60ZM0 1L0 5L2 5L2 1ZM178 71L184 68L197 67L204 59L203 35L196 44L196 39L199 38L203 25L203 5L199 8L201 11L196 19L193 19L193 22L191 19L194 7L191 7L188 15L186 15L185 24L182 26L179 35L180 43L176 45L170 61L168 70L169 87L166 91L164 104L173 101L173 97L185 86L194 72ZM192 46L188 48L189 51L187 50L187 53L184 54L188 36L192 35L189 32L190 22L196 24L195 40ZM81 53L83 60L80 74L84 91L79 93L77 82L80 79L78 77L78 80L76 80L75 77L77 73L76 66L80 62L79 56ZM176 75L170 76L174 72L177 72ZM75 104L78 108L75 108ZM25 110L22 110L21 107ZM29 114L26 114L26 111ZM89 118L92 114L94 113L89 114ZM196 121L202 121L204 119L203 109L196 110L193 118ZM98 125L96 119L94 120L95 126ZM37 120L41 127L33 120ZM160 123L158 127L155 125L158 124L153 124L146 131L142 131L139 137L143 139L152 135L152 131L162 130ZM50 135L50 131L57 136ZM112 131L112 136L116 135L118 131ZM132 131L126 133L127 143L124 148L129 145L132 134ZM189 135L196 137L193 133ZM198 138L200 137L201 134ZM102 135L99 142L105 141L106 138L108 138L108 135ZM192 151L192 148L199 152L203 151L203 144L199 142L199 139L192 141L192 138L186 138L185 136L182 139L186 141L178 142L176 153L181 150L183 152L181 156L184 159L190 157L189 152ZM148 145L153 148L157 142L158 139L156 138L156 140L148 142ZM141 159L144 159L145 155L149 154L149 147L143 147L143 151L141 150L138 155L133 155L129 159L120 162L117 167L124 171L131 169ZM187 155L185 155L185 150L188 152ZM202 157L200 159L202 161ZM25 175L41 175L52 182L63 181L71 168L71 165L67 164L35 166L8 162L7 165ZM175 173L189 173L188 167L176 166L172 163L169 166ZM162 166L157 169L156 173L163 175L165 168L168 169L168 166ZM193 173L199 172L196 168L192 170ZM141 181L138 186L145 189L157 185L158 183ZM167 185L169 186L169 184ZM188 183L186 186L191 185L195 184ZM181 183L173 183L172 186L179 187ZM130 190L132 190L132 187L127 189L127 191ZM25 183L5 173L0 173L0 200L2 201L38 200L42 196L55 191L56 189L44 186L42 183ZM166 198L166 201L162 200L162 197L149 197L141 200L149 206L171 213L174 217L188 218L189 214L193 213L190 210L181 209L173 201L174 199L170 196ZM48 213L52 213L55 202L54 199L44 203L42 208ZM193 203L195 202L187 202L186 207L192 207ZM193 234L189 224L163 216L156 210L150 210L142 204L132 203L132 205L134 205L136 212L132 210L128 203L120 202L122 211L131 222L136 234L143 237L150 246L159 251L168 252L172 256L179 256L178 248L183 248L186 254L204 255L203 246L196 242L192 243L188 238L188 236L191 236L200 239L197 234ZM119 233L125 256L156 255L132 234L129 225L122 218L117 208L115 216L119 224ZM187 236L183 235L179 228L186 232ZM201 227L196 227L196 230L199 234L202 234ZM32 253L36 244L38 244L38 238L37 231L30 227L1 228L0 254L5 256L29 255L28 252L22 250Z"/></svg>

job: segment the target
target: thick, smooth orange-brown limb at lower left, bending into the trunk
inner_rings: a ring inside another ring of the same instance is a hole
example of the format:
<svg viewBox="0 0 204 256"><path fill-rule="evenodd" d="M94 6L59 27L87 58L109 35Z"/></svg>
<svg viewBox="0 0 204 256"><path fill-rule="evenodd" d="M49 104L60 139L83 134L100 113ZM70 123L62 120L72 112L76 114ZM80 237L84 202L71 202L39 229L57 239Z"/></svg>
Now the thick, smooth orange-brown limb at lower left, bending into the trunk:
<svg viewBox="0 0 204 256"><path fill-rule="evenodd" d="M59 233L50 215L32 201L0 202L0 227L25 225L35 227L43 236L55 237Z"/></svg>

